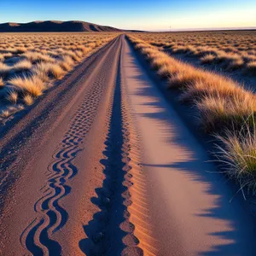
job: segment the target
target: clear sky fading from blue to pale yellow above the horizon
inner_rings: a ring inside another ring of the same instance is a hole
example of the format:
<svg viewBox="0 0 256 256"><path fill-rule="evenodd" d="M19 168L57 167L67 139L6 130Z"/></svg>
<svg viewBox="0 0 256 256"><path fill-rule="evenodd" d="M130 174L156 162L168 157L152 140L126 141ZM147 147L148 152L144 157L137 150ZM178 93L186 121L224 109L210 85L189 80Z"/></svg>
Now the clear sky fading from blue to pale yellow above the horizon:
<svg viewBox="0 0 256 256"><path fill-rule="evenodd" d="M256 0L0 0L0 22L84 20L119 28L256 26Z"/></svg>

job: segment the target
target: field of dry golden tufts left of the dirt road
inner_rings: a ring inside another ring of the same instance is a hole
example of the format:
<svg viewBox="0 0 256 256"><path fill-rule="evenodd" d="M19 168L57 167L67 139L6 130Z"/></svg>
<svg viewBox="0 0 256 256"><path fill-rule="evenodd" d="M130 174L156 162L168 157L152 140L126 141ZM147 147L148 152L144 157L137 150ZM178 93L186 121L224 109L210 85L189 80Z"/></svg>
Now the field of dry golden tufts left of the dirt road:
<svg viewBox="0 0 256 256"><path fill-rule="evenodd" d="M5 119L62 79L117 33L2 33L0 119Z"/></svg>

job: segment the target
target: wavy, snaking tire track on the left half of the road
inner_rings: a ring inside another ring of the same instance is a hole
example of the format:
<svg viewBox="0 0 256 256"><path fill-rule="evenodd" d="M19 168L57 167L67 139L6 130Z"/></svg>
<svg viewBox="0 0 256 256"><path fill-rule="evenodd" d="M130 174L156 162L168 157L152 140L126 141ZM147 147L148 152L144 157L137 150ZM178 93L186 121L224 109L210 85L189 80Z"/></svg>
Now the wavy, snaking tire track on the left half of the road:
<svg viewBox="0 0 256 256"><path fill-rule="evenodd" d="M108 52L108 61L102 62L84 102L73 117L73 123L53 154L53 161L48 167L48 182L44 185L44 196L34 205L38 216L20 236L23 247L34 255L61 255L61 244L50 237L67 223L68 212L61 207L60 201L72 191L68 180L79 172L73 160L83 150L84 137L90 131L99 103L108 87L108 71L112 67L114 54L113 51Z"/></svg>

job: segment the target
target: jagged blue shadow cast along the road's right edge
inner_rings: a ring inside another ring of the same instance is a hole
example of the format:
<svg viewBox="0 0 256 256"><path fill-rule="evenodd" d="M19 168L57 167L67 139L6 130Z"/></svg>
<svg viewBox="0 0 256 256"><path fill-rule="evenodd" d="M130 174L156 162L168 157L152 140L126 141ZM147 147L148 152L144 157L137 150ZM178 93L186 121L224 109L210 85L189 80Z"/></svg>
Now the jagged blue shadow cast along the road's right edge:
<svg viewBox="0 0 256 256"><path fill-rule="evenodd" d="M134 52L131 52L131 60L127 65L141 67ZM212 246L210 250L198 252L198 255L255 255L253 254L255 252L253 246L254 224L250 212L245 210L240 195L236 196L231 203L229 202L232 195L236 193L234 186L227 182L223 174L217 173L216 166L205 162L210 160L205 149L201 147L201 143L197 141L188 127L183 124L179 113L173 110L170 102L166 101L160 90L156 86L148 85L152 84L152 81L148 79L147 73L142 73L141 69L138 69L131 78L137 79L138 83L141 84L134 96L147 99L146 103L143 103L144 106L148 107L146 108L147 112L142 111L137 115L146 119L154 119L161 127L161 133L166 138L165 143L177 144L183 148L184 154L188 155L188 160L185 161L166 163L166 165L151 165L150 163L143 163L142 165L170 168L170 172L175 169L177 172L183 172L195 183L203 184L206 188L204 192L215 198L214 204L212 207L200 209L200 213L195 215L202 219L207 218L209 221L218 219L229 226L227 230L205 234L205 236L210 236L212 240L221 240L221 242L217 246ZM151 109L152 111L150 111Z"/></svg>

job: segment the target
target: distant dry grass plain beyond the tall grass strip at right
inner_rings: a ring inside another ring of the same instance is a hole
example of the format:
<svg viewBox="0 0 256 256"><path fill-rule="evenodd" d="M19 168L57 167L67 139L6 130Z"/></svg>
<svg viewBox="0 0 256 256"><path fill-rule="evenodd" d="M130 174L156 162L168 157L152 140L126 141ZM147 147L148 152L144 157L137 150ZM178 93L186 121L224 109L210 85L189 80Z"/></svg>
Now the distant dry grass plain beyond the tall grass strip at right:
<svg viewBox="0 0 256 256"><path fill-rule="evenodd" d="M159 32L137 33L148 44L200 58L230 71L242 69L256 76L256 32Z"/></svg>

